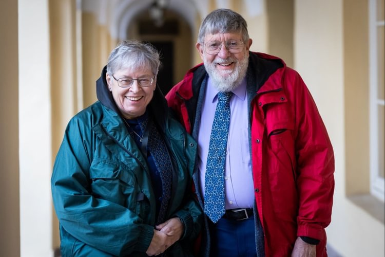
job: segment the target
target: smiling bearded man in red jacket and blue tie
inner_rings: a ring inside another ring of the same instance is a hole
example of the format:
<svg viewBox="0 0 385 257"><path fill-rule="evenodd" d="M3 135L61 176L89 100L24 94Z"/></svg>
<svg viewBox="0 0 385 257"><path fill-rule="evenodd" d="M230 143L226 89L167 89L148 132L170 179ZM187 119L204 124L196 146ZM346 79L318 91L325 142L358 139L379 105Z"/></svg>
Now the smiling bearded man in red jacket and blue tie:
<svg viewBox="0 0 385 257"><path fill-rule="evenodd" d="M326 256L334 191L328 133L298 73L251 45L241 15L209 13L196 44L204 65L166 96L198 141L201 254Z"/></svg>

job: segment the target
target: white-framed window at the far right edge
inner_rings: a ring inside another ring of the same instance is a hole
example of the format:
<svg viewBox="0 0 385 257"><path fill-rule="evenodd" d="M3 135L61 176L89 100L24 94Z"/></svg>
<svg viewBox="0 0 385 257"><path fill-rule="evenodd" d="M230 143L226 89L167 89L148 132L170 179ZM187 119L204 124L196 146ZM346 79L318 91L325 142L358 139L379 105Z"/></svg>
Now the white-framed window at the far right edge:
<svg viewBox="0 0 385 257"><path fill-rule="evenodd" d="M384 0L369 1L371 194L384 201Z"/></svg>

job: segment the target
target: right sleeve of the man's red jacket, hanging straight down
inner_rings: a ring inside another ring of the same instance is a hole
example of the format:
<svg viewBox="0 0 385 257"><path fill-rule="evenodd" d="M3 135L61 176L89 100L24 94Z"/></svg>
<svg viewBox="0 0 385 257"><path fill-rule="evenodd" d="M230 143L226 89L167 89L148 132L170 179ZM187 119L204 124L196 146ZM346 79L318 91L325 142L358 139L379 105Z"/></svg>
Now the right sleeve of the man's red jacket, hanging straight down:
<svg viewBox="0 0 385 257"><path fill-rule="evenodd" d="M334 153L316 104L297 72L293 83L295 149L299 210L297 236L324 240L331 222L334 193ZM287 78L286 78L287 79Z"/></svg>

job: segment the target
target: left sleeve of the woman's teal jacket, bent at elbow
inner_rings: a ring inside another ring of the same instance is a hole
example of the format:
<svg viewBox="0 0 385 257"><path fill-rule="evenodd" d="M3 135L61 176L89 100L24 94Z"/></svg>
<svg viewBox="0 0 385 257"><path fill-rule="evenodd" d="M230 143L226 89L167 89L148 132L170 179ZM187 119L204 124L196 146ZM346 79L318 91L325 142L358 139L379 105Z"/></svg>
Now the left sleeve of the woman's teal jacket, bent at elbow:
<svg viewBox="0 0 385 257"><path fill-rule="evenodd" d="M145 252L153 227L124 206L92 195L94 138L91 125L83 123L78 118L69 122L53 167L51 189L60 225L77 240L113 255Z"/></svg>

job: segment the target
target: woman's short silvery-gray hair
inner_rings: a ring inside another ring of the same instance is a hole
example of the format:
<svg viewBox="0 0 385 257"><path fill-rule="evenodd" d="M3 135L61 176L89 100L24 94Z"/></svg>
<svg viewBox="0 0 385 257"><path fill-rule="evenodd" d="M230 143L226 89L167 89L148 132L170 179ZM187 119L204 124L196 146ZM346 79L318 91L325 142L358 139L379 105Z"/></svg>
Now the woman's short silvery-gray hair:
<svg viewBox="0 0 385 257"><path fill-rule="evenodd" d="M108 57L107 74L128 67L150 68L154 76L158 75L161 65L158 50L149 43L134 40L122 41Z"/></svg>

